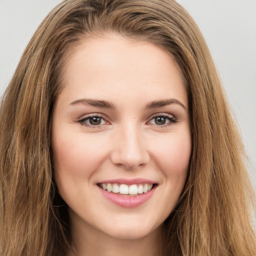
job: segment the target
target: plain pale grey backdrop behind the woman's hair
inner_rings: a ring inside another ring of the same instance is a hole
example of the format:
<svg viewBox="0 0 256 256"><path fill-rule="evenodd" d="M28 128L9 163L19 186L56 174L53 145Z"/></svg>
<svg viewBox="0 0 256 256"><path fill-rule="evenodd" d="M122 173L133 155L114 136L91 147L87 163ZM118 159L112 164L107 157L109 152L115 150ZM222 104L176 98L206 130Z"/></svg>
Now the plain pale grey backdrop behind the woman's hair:
<svg viewBox="0 0 256 256"><path fill-rule="evenodd" d="M177 0L201 29L242 133L256 187L256 0ZM60 0L0 0L0 95L36 27Z"/></svg>

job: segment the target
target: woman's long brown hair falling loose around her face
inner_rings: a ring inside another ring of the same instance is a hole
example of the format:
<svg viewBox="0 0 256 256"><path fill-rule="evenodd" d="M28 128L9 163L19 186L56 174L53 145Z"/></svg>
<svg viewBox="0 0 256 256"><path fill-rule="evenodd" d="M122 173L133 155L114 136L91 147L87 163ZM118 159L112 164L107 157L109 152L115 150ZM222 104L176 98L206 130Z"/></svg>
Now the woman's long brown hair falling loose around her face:
<svg viewBox="0 0 256 256"><path fill-rule="evenodd" d="M51 112L70 49L109 33L165 49L187 88L191 162L164 222L164 255L255 256L243 146L205 41L174 0L65 0L43 20L0 106L0 254L66 254L71 238L53 178Z"/></svg>

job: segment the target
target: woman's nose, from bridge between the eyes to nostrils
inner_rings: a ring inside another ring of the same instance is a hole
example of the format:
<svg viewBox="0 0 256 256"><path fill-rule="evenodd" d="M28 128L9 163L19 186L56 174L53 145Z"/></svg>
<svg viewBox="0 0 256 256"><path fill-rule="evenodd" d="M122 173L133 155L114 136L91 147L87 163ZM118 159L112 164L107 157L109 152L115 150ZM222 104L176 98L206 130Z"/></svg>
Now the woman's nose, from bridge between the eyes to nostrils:
<svg viewBox="0 0 256 256"><path fill-rule="evenodd" d="M110 155L113 164L126 169L135 169L149 162L146 141L135 125L119 128L113 139L115 143Z"/></svg>

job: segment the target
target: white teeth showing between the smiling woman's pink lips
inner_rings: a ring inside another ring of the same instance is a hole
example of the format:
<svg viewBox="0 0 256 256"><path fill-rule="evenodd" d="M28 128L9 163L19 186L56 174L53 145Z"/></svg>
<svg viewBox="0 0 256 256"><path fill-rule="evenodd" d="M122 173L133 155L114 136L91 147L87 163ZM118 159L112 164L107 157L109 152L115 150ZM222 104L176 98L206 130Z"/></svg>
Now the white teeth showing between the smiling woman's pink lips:
<svg viewBox="0 0 256 256"><path fill-rule="evenodd" d="M119 183L97 183L99 187L105 191L112 192L122 196L137 196L147 193L157 184L141 183L141 184L119 184Z"/></svg>

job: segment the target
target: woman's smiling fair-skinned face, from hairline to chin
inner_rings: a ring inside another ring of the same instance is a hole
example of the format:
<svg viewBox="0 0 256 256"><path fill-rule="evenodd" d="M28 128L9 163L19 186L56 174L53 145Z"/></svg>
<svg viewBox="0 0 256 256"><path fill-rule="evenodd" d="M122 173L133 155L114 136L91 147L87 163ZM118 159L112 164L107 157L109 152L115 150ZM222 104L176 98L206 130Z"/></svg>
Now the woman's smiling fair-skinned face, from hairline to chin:
<svg viewBox="0 0 256 256"><path fill-rule="evenodd" d="M85 39L65 71L52 149L71 225L116 238L156 232L180 197L191 152L177 65L154 44L109 36Z"/></svg>

